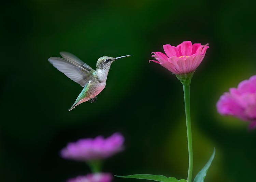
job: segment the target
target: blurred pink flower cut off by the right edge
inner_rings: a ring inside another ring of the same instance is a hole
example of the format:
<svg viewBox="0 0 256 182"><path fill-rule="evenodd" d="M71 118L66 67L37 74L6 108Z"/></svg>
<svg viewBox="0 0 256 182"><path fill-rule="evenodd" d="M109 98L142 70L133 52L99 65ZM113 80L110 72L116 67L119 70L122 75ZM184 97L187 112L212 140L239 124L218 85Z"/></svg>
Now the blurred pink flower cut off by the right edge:
<svg viewBox="0 0 256 182"><path fill-rule="evenodd" d="M256 75L224 93L217 102L217 110L250 122L250 129L256 127Z"/></svg>

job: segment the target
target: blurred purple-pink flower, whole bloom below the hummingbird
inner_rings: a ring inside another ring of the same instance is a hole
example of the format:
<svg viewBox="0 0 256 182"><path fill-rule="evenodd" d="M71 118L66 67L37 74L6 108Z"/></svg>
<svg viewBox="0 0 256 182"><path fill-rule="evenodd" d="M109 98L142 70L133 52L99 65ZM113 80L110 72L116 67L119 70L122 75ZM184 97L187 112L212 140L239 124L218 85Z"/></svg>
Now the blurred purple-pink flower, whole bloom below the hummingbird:
<svg viewBox="0 0 256 182"><path fill-rule="evenodd" d="M97 136L95 139L80 139L69 143L60 152L62 158L76 161L93 161L108 158L123 150L124 136L114 133L104 139Z"/></svg>

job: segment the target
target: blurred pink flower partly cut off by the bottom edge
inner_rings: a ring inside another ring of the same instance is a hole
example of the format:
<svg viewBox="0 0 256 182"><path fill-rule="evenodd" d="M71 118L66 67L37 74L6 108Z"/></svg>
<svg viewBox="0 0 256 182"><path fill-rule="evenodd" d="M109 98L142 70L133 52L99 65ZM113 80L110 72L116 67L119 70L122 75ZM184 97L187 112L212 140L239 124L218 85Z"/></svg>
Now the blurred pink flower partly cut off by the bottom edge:
<svg viewBox="0 0 256 182"><path fill-rule="evenodd" d="M112 175L110 173L94 173L86 176L77 176L67 182L111 182L111 180Z"/></svg>

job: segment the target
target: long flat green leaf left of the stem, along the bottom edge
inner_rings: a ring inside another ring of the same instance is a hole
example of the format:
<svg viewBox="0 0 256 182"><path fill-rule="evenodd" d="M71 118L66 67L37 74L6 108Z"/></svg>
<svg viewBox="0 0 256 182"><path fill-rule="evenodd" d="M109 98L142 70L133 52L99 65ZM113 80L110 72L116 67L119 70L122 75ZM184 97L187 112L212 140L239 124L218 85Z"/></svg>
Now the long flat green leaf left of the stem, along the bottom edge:
<svg viewBox="0 0 256 182"><path fill-rule="evenodd" d="M167 178L166 176L163 176L163 175L143 175L143 174L137 174L137 175L129 175L129 176L116 176L116 177L153 180L153 181L160 181L160 182L187 182L187 180L177 180L174 177Z"/></svg>

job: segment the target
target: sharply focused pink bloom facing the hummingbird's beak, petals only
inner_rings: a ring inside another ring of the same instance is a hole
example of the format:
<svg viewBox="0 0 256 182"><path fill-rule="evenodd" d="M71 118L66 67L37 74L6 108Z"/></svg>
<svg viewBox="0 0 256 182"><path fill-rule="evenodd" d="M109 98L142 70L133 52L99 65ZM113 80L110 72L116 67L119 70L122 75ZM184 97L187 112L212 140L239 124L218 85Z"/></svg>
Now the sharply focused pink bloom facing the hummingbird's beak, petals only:
<svg viewBox="0 0 256 182"><path fill-rule="evenodd" d="M181 44L171 46L170 44L163 45L165 54L161 52L152 52L155 60L150 60L159 63L174 74L187 74L194 72L202 62L208 44L201 45L191 41L184 41Z"/></svg>

